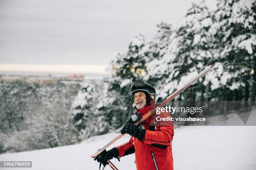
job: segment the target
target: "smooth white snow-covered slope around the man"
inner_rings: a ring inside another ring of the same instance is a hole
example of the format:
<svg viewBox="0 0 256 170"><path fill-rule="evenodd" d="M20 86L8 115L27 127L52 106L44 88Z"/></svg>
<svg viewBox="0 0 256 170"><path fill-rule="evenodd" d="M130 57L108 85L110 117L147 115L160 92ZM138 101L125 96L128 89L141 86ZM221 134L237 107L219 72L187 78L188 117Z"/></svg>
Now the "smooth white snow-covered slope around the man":
<svg viewBox="0 0 256 170"><path fill-rule="evenodd" d="M256 126L187 126L175 128L175 170L255 170ZM116 133L95 136L77 145L1 154L0 161L32 161L33 170L88 170L99 165L89 156L108 143ZM125 143L125 135L117 144ZM117 144L113 145L116 146ZM136 169L134 155L116 159L120 170ZM29 168L0 168L28 170ZM110 169L108 166L105 168Z"/></svg>

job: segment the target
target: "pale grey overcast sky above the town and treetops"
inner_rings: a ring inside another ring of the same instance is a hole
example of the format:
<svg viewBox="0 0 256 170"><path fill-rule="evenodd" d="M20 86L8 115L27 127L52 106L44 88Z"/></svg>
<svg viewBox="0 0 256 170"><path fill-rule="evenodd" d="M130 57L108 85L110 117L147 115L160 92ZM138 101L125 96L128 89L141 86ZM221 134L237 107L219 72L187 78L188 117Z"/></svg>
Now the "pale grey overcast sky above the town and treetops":
<svg viewBox="0 0 256 170"><path fill-rule="evenodd" d="M1 0L0 71L14 64L107 65L133 37L151 40L157 24L175 25L199 1ZM216 2L206 4L214 9Z"/></svg>

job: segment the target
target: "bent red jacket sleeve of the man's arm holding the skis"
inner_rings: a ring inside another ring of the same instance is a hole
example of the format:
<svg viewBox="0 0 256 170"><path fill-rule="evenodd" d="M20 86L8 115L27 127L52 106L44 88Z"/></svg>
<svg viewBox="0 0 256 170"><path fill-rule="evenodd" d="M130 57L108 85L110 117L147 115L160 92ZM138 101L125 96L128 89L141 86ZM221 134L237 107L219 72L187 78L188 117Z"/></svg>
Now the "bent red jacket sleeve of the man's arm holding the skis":
<svg viewBox="0 0 256 170"><path fill-rule="evenodd" d="M169 113L163 113L160 117L167 117ZM174 126L172 122L156 121L156 131L146 130L145 138L141 142L166 149L172 142Z"/></svg>

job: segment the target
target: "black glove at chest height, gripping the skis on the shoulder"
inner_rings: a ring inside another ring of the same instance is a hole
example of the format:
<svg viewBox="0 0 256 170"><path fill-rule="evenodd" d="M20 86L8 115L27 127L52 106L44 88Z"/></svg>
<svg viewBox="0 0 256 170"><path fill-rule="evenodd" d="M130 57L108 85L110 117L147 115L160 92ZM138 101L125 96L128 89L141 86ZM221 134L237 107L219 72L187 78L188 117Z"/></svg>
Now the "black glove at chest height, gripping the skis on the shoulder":
<svg viewBox="0 0 256 170"><path fill-rule="evenodd" d="M132 135L134 138L138 138L138 140L143 140L143 138L145 138L146 130L139 128L133 123L127 123L121 130L121 133L127 133L129 135Z"/></svg>

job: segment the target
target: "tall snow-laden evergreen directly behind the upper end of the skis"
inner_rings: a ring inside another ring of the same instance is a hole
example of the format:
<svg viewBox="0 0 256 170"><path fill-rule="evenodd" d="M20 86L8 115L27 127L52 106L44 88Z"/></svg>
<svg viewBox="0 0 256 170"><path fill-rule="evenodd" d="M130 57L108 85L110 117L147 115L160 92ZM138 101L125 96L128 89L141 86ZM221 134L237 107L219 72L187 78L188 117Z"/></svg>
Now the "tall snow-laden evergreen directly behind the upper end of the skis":
<svg viewBox="0 0 256 170"><path fill-rule="evenodd" d="M174 60L175 66L171 72L173 79L178 81L177 88L195 77L209 62L214 62L210 50L213 45L207 32L211 25L211 14L204 2L192 3L187 15L179 23L176 30L177 39L179 39L178 51ZM190 101L204 100L204 94L196 96L196 91L200 93L205 91L202 81L204 78L191 86L190 90L183 92L182 96Z"/></svg>

